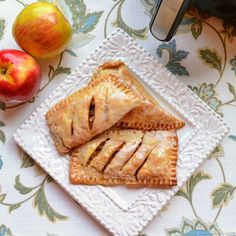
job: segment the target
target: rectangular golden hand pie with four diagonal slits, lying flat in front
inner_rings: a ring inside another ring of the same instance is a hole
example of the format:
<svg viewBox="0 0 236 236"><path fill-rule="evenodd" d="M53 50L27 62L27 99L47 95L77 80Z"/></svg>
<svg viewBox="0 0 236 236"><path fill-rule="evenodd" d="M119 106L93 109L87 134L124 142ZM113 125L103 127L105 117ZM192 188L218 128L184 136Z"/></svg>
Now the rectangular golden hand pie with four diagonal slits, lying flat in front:
<svg viewBox="0 0 236 236"><path fill-rule="evenodd" d="M87 185L176 185L176 131L111 129L75 148L70 181Z"/></svg>

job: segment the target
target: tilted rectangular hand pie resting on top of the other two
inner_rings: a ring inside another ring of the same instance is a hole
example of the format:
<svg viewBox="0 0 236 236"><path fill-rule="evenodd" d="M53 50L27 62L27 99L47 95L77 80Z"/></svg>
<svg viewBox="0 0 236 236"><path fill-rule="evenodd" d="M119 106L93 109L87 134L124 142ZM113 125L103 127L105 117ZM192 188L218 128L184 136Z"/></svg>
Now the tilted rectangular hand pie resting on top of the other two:
<svg viewBox="0 0 236 236"><path fill-rule="evenodd" d="M94 82L54 105L46 114L61 154L109 129L140 100L114 75Z"/></svg>

